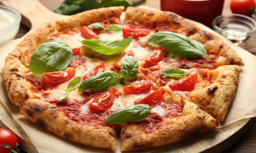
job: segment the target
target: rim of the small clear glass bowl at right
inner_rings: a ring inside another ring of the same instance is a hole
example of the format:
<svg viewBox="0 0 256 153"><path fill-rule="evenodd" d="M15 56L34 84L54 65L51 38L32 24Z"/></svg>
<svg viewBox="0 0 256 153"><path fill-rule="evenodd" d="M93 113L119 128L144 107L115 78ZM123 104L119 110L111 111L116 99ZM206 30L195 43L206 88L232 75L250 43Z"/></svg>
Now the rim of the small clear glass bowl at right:
<svg viewBox="0 0 256 153"><path fill-rule="evenodd" d="M217 21L218 19L220 19L221 17L227 17L227 16L238 16L238 17L246 18L246 19L252 21L252 22L254 23L254 28L253 28L251 31L246 32L246 35L255 32L255 30L256 30L256 21L253 20L252 18L248 17L248 16L241 15L241 14L224 14L224 15L217 16L217 17L212 21L212 28L213 28L213 29L215 28L215 29L217 29L217 30L219 30L219 31L221 31L221 32L225 32L225 30L220 29L215 23L216 23L216 21ZM230 34L232 35L232 33L230 33ZM234 35L236 35L236 34L234 34Z"/></svg>

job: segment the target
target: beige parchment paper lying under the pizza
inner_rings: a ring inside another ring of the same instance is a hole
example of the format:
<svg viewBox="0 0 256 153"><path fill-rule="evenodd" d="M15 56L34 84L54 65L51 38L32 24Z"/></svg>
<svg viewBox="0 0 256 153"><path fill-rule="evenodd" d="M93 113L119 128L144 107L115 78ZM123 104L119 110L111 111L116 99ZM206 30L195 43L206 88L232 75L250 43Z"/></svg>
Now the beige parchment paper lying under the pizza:
<svg viewBox="0 0 256 153"><path fill-rule="evenodd" d="M145 7L145 6L143 6ZM196 24L203 30L210 31L215 33L208 27L197 23ZM217 34L217 33L215 33ZM219 34L217 34L219 35ZM220 36L220 35L219 35ZM220 124L223 126L229 125L233 122L244 118L251 118L256 116L256 105L255 105L255 95L256 90L254 88L256 84L256 57L246 50L235 46L232 42L227 40L226 38L220 36L224 42L226 42L230 47L232 47L236 53L242 58L245 63L245 66L241 68L241 73L239 76L239 84L236 96L234 98L233 104L230 107L230 110L223 122ZM20 42L20 40L13 40L7 42L0 46L0 67L2 68L5 62L5 58L8 53L10 53L15 46ZM97 149L82 146L65 139L62 139L55 134L39 128L39 126L35 125L31 121L27 120L25 117L20 115L19 107L14 106L8 97L6 96L5 86L3 81L0 81L0 98L3 104L6 106L8 111L12 114L14 119L20 124L20 126L24 129L27 135L30 137L31 141L37 148L39 153L48 153L48 152L121 152L120 150L120 141L118 138L118 150L117 151L109 151L105 149ZM0 119L3 116L0 117ZM117 137L120 134L117 133ZM204 137L202 137L204 139ZM159 149L159 148L157 148ZM145 150L145 151L137 151L137 152L152 152L154 150Z"/></svg>

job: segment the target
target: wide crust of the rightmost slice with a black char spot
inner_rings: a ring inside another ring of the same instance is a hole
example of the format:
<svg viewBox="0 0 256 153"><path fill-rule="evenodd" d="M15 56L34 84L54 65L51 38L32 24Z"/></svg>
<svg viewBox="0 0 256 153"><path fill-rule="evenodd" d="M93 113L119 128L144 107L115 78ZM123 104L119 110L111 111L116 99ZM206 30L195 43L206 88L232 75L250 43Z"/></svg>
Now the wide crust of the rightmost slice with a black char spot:
<svg viewBox="0 0 256 153"><path fill-rule="evenodd" d="M190 101L223 121L236 94L240 67L236 65L220 66L211 72L210 86L192 92Z"/></svg>

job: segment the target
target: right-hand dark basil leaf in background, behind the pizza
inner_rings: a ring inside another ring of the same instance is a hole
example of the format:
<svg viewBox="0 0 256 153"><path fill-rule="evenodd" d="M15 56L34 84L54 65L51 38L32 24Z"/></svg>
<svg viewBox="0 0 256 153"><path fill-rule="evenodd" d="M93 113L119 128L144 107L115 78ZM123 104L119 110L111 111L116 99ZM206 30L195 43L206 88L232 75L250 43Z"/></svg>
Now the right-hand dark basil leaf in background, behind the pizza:
<svg viewBox="0 0 256 153"><path fill-rule="evenodd" d="M126 8L128 6L132 6L130 1L126 0L102 0L100 3L100 7L110 7L110 6L124 6Z"/></svg>

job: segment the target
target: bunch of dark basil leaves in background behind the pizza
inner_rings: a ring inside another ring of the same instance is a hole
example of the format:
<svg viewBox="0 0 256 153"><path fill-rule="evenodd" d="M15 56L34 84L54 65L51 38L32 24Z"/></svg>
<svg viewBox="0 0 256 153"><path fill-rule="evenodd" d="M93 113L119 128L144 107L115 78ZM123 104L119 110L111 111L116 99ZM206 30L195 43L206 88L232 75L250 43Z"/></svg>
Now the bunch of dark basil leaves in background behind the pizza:
<svg viewBox="0 0 256 153"><path fill-rule="evenodd" d="M124 6L125 9L132 3L126 0L66 0L54 11L58 14L73 15L79 12L110 6Z"/></svg>

